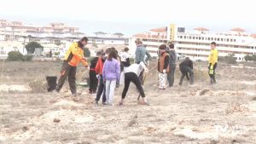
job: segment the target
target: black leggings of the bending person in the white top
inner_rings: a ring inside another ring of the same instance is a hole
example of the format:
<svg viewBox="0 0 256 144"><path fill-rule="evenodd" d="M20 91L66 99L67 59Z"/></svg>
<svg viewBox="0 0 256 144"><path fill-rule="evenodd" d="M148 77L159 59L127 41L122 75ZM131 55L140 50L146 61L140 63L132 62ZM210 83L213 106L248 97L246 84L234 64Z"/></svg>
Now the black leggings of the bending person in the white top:
<svg viewBox="0 0 256 144"><path fill-rule="evenodd" d="M125 88L122 93L122 99L125 99L125 95L129 89L131 82L136 85L142 97L145 97L142 84L140 83L139 78L137 77L137 74L135 74L134 72L127 72L125 73Z"/></svg>

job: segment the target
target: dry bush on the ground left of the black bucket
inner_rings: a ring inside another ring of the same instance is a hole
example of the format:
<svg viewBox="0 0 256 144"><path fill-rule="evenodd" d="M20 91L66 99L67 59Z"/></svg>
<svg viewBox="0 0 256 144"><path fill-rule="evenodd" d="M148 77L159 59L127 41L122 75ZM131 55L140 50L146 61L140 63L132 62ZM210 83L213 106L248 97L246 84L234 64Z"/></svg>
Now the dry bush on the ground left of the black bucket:
<svg viewBox="0 0 256 144"><path fill-rule="evenodd" d="M34 93L45 93L47 92L47 84L43 80L34 80L29 83L32 92Z"/></svg>

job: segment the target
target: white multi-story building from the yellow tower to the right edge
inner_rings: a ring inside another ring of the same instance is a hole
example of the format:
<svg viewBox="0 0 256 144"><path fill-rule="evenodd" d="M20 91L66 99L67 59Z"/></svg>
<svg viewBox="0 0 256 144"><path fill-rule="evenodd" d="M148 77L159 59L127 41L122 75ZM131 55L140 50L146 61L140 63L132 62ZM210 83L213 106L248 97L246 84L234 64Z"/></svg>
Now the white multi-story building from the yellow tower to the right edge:
<svg viewBox="0 0 256 144"><path fill-rule="evenodd" d="M185 32L184 27L169 26L168 39L175 43L179 55L189 56L195 60L207 60L210 43L216 42L218 55L234 55L236 60L244 60L245 55L256 54L255 35L249 35L241 28L230 32L211 33L207 28L195 28L195 32Z"/></svg>

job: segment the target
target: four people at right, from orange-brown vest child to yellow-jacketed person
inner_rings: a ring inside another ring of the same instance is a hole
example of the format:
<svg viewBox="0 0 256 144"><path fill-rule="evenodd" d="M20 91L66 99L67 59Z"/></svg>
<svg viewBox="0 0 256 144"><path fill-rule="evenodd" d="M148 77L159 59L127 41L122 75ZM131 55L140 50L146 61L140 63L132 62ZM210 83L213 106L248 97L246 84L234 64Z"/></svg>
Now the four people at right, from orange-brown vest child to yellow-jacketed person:
<svg viewBox="0 0 256 144"><path fill-rule="evenodd" d="M216 84L215 69L218 63L218 49L216 43L211 43L211 53L208 56L208 74L210 76L210 83ZM174 49L173 43L161 44L159 47L158 72L159 72L159 89L166 89L166 77L169 82L169 87L173 86L174 73L177 65L177 53ZM189 84L194 84L193 61L186 57L180 64L179 70L182 73L179 80L179 85L183 84L183 78L189 80Z"/></svg>

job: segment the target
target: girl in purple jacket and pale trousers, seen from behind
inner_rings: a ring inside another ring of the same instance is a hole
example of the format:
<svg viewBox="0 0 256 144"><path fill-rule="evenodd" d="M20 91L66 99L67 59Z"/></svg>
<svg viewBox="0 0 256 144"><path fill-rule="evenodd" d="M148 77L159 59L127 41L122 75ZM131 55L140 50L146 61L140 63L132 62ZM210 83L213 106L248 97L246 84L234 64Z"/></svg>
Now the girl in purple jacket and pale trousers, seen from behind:
<svg viewBox="0 0 256 144"><path fill-rule="evenodd" d="M111 50L108 59L105 61L102 71L103 82L106 84L107 104L113 105L114 89L120 78L120 63L117 60L117 53Z"/></svg>

